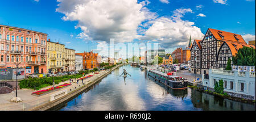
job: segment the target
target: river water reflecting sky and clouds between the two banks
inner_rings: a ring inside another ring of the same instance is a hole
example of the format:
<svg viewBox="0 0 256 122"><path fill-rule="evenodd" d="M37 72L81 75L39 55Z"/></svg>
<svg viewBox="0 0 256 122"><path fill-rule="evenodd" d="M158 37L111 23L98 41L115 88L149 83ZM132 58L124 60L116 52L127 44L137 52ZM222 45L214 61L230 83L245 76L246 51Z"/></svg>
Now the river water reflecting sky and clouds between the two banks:
<svg viewBox="0 0 256 122"><path fill-rule="evenodd" d="M131 74L125 81L123 69ZM61 111L80 110L254 110L255 104L222 99L193 89L172 90L129 65L112 71L90 90L69 101Z"/></svg>

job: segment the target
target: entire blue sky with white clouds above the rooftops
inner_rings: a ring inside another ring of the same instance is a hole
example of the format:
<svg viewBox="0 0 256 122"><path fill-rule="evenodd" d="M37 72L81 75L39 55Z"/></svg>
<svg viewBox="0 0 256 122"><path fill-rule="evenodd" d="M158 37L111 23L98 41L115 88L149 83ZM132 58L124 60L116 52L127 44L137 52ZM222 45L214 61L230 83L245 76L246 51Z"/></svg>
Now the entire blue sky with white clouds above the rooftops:
<svg viewBox="0 0 256 122"><path fill-rule="evenodd" d="M255 40L255 0L9 0L0 24L44 32L48 39L88 52L97 45L159 43L171 53L203 39L208 28Z"/></svg>

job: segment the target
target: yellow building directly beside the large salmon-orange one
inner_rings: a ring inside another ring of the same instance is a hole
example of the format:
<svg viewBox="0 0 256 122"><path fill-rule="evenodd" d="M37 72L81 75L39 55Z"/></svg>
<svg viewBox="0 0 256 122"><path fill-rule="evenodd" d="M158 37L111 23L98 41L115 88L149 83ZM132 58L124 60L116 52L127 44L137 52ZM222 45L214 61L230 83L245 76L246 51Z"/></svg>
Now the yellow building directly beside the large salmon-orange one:
<svg viewBox="0 0 256 122"><path fill-rule="evenodd" d="M75 54L75 53L74 53ZM47 41L47 73L65 71L65 45Z"/></svg>

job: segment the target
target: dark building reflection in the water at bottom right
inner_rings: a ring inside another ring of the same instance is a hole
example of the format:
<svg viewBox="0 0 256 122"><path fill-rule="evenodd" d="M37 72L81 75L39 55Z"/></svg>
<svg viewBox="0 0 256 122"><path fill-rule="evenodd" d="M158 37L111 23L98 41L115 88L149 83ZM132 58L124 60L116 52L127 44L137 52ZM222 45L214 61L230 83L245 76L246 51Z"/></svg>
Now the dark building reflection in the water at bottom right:
<svg viewBox="0 0 256 122"><path fill-rule="evenodd" d="M255 106L253 104L246 104L229 99L223 99L218 96L205 94L195 90L191 91L191 100L194 107L209 111L255 110Z"/></svg>

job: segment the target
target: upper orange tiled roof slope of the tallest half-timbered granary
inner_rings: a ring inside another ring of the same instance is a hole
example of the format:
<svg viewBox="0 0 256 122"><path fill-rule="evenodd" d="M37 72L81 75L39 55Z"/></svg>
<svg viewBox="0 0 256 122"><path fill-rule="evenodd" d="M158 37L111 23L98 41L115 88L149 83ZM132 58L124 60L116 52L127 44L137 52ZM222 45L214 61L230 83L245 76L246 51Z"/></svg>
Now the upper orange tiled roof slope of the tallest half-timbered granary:
<svg viewBox="0 0 256 122"><path fill-rule="evenodd" d="M239 43L246 43L245 40L243 40L243 37L241 35L236 34L236 33L220 31L220 30L214 30L212 28L209 28L209 30L210 30L210 32L212 32L213 36L217 40L234 41L234 42L239 42ZM224 39L222 39L222 36L224 36Z"/></svg>

